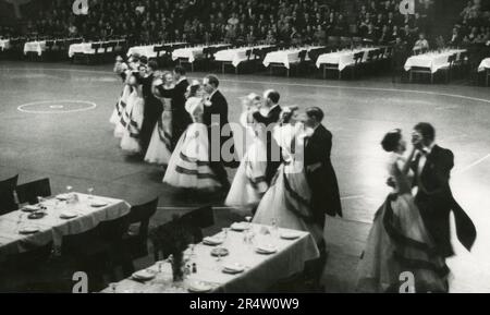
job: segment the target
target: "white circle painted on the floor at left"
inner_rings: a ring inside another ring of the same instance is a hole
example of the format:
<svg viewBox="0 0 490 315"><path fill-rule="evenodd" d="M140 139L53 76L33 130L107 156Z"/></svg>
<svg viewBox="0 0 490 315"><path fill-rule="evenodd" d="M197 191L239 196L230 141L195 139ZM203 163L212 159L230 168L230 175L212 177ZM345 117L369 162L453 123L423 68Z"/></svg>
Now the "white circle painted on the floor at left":
<svg viewBox="0 0 490 315"><path fill-rule="evenodd" d="M95 109L97 104L87 100L45 100L23 104L19 111L27 113L69 113Z"/></svg>

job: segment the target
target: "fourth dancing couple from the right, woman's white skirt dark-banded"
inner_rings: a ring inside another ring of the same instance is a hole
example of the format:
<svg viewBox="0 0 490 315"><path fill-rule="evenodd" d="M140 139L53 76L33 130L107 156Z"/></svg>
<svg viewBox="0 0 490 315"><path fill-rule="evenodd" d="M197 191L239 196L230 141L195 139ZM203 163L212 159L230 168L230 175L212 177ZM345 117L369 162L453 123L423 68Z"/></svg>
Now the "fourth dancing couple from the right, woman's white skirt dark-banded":
<svg viewBox="0 0 490 315"><path fill-rule="evenodd" d="M229 129L228 101L218 89L219 84L218 77L207 75L203 83L194 81L188 86L185 110L192 124L175 145L164 183L198 193L229 191L225 167L235 168L237 158L233 133L223 132ZM212 134L219 137L211 138Z"/></svg>

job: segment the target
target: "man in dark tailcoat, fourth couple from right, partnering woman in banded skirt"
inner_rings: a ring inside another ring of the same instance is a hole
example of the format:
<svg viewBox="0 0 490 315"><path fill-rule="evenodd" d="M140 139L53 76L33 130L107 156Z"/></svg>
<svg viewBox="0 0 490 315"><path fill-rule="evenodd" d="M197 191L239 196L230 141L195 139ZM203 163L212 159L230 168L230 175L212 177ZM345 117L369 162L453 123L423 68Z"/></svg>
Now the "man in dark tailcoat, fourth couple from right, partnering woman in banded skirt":
<svg viewBox="0 0 490 315"><path fill-rule="evenodd" d="M224 167L236 168L240 161L235 154L233 133L228 121L228 101L218 90L220 82L215 75L207 75L203 86L208 97L205 101L203 123L208 126L210 167L221 183L223 192L230 190Z"/></svg>

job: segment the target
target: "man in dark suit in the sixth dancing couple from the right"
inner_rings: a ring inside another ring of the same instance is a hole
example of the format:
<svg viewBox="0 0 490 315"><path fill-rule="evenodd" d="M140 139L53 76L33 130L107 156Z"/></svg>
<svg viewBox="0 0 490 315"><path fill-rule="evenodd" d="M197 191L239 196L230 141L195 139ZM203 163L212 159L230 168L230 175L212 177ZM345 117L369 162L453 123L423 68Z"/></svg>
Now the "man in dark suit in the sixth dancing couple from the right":
<svg viewBox="0 0 490 315"><path fill-rule="evenodd" d="M145 100L145 110L143 116L143 125L140 132L140 144L143 156L146 155L149 142L151 140L151 133L157 124L158 118L163 111L163 107L158 98L152 93L152 84L155 78L155 71L158 70L158 63L156 61L149 61L146 66L146 76L143 81L143 99Z"/></svg>

